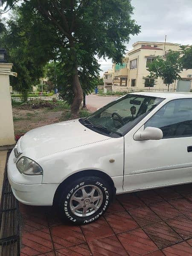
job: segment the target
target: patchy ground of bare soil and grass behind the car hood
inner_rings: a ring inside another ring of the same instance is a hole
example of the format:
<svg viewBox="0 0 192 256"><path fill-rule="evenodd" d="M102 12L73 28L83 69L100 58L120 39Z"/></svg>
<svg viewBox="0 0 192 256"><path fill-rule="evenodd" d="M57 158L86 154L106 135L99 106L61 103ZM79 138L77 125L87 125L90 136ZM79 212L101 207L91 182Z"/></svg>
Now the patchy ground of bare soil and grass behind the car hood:
<svg viewBox="0 0 192 256"><path fill-rule="evenodd" d="M53 104L52 108L34 109L32 104L21 105L20 102L12 102L15 135L24 134L40 126L73 119L70 106L65 102L50 103ZM86 117L89 114L88 110L81 109L79 117Z"/></svg>

